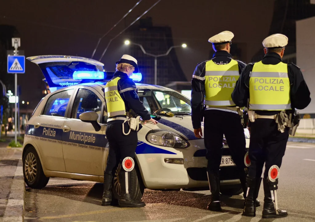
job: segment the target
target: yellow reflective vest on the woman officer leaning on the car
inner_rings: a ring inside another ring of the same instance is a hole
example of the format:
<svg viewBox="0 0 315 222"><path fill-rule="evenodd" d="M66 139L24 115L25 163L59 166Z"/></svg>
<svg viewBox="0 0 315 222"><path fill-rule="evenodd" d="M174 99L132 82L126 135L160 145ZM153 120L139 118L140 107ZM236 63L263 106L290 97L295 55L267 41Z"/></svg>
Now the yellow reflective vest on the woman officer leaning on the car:
<svg viewBox="0 0 315 222"><path fill-rule="evenodd" d="M105 85L105 100L108 117L126 115L125 102L120 96L117 88L118 80L120 77L110 80Z"/></svg>

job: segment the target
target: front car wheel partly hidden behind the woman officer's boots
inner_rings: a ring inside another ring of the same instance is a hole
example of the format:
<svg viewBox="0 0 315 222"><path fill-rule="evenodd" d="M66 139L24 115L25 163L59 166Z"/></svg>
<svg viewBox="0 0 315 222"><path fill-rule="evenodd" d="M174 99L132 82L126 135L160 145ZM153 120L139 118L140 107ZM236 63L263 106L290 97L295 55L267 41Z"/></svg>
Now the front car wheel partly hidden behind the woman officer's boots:
<svg viewBox="0 0 315 222"><path fill-rule="evenodd" d="M119 163L119 165L116 168L116 171L114 172L113 183L112 183L113 197L114 199L117 199L117 200L120 199L120 195L121 195L120 178L119 178L121 167L122 167L122 164ZM130 196L133 199L140 201L144 193L144 185L143 185L141 174L140 174L140 171L138 170L137 165L131 171L130 175L131 175L130 192L129 192Z"/></svg>

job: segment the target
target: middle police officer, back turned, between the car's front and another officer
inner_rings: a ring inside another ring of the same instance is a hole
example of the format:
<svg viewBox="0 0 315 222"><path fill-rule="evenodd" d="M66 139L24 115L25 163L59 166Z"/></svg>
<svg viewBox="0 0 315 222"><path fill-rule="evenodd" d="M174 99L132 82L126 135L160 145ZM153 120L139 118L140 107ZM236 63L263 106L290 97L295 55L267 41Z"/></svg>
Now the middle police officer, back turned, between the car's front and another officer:
<svg viewBox="0 0 315 222"><path fill-rule="evenodd" d="M208 209L212 211L221 210L219 170L223 134L238 168L244 198L247 191L244 129L231 98L239 74L246 64L232 59L230 45L233 37L232 32L224 31L209 38L215 50L213 58L200 62L192 75L192 125L195 136L201 138L201 121L204 116L204 144L207 149L207 175L211 191Z"/></svg>

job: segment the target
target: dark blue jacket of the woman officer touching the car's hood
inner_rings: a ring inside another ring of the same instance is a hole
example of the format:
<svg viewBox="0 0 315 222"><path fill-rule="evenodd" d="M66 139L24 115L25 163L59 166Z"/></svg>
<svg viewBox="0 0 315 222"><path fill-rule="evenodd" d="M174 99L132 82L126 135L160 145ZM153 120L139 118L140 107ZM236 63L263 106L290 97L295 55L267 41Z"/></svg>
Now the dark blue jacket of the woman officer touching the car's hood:
<svg viewBox="0 0 315 222"><path fill-rule="evenodd" d="M133 109L136 114L139 114L142 117L143 120L150 120L151 119L150 113L148 110L146 110L143 103L139 99L135 82L132 79L130 79L126 73L120 71L114 73L112 79L116 78L117 76L121 78L118 80L117 88L120 96L125 102L126 112L129 112L130 109ZM110 123L115 122L123 122L123 120L110 121Z"/></svg>

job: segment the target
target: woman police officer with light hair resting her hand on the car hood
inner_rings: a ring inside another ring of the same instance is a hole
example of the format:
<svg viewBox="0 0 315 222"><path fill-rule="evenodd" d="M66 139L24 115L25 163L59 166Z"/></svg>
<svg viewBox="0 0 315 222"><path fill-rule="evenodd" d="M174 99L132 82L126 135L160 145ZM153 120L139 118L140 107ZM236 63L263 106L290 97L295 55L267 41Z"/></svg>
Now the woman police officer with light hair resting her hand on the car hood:
<svg viewBox="0 0 315 222"><path fill-rule="evenodd" d="M145 123L147 120L156 124L157 121L150 117L150 113L140 102L137 87L129 77L132 73L138 73L137 60L130 55L123 55L116 62L116 73L105 85L105 99L108 113L106 137L109 145L106 170L104 172L104 193L102 206L108 206L112 202L111 184L112 173L117 163L126 157L134 158L138 143L137 131L130 130L125 122L126 112L132 109L139 114ZM124 126L124 127L123 127ZM123 133L124 130L124 133ZM128 134L129 132L129 134ZM125 135L127 134L127 135ZM144 207L145 203L132 199L130 196L130 171L121 167L119 174L121 198L118 200L120 207Z"/></svg>

